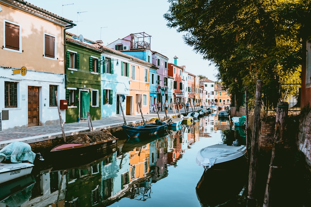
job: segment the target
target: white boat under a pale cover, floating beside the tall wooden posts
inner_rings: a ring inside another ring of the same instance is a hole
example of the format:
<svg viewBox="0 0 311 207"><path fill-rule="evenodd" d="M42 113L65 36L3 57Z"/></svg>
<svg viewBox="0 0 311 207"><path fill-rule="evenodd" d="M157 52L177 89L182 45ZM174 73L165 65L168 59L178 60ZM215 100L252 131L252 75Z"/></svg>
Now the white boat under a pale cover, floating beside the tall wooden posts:
<svg viewBox="0 0 311 207"><path fill-rule="evenodd" d="M226 144L216 144L202 148L197 153L197 164L205 170L210 169L215 164L228 164L246 153L246 146L228 146Z"/></svg>

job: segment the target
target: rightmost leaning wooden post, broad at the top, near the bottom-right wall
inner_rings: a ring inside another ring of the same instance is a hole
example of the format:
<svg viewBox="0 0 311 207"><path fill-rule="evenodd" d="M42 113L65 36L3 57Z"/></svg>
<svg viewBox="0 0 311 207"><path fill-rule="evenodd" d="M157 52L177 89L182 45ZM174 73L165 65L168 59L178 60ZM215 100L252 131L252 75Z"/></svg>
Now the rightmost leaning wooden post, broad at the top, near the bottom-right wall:
<svg viewBox="0 0 311 207"><path fill-rule="evenodd" d="M267 186L266 186L266 192L265 197L263 200L263 207L269 207L271 205L271 198L273 197L273 193L271 194L271 189L275 190L276 187L273 183L273 176L276 176L276 171L279 171L280 166L280 151L282 150L282 143L283 143L283 134L285 129L285 119L287 117L288 113L288 103L287 102L278 102L276 107L276 122L275 122L275 132L274 132L274 138L273 138L273 147L272 147L272 154L271 154L271 161L270 161L270 168L267 178ZM278 158L278 159L276 159ZM279 161L278 161L279 160Z"/></svg>

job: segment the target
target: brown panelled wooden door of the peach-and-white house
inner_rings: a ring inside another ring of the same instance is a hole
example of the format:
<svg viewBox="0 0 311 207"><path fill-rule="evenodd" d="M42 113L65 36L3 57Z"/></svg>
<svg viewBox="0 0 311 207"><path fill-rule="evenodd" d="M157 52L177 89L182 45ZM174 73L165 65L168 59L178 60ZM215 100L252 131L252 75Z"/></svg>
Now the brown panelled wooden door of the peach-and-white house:
<svg viewBox="0 0 311 207"><path fill-rule="evenodd" d="M28 86L28 126L39 126L39 87Z"/></svg>

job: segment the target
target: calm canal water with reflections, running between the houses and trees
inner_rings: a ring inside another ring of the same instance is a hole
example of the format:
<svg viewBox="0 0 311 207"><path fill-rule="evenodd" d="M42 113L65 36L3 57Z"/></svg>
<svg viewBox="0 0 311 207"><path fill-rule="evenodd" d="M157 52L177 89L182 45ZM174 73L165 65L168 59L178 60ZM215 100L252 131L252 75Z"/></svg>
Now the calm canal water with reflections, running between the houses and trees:
<svg viewBox="0 0 311 207"><path fill-rule="evenodd" d="M144 140L120 132L117 146L70 162L46 152L33 176L10 184L22 190L0 193L0 207L247 206L247 170L209 174L196 164L200 149L230 144L230 134L229 119L209 115Z"/></svg>

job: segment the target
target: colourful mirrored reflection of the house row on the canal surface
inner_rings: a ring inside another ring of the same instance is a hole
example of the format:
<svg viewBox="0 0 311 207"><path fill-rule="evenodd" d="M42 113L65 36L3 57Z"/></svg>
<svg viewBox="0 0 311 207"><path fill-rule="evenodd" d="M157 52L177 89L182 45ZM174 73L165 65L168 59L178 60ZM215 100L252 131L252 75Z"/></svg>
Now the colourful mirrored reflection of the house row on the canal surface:
<svg viewBox="0 0 311 207"><path fill-rule="evenodd" d="M195 122L150 143L137 142L132 148L125 143L80 167L42 170L25 205L102 206L123 197L146 200L152 183L167 177L168 166L177 166L204 127Z"/></svg>

